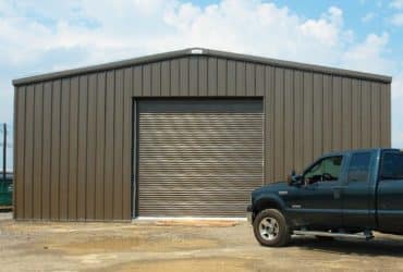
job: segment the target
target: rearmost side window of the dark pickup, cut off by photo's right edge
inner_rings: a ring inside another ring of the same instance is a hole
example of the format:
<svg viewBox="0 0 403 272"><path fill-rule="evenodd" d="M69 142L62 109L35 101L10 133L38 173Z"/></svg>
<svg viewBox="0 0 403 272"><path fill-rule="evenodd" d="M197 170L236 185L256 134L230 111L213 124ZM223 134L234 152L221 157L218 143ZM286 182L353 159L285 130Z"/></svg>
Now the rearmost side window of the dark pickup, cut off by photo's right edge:
<svg viewBox="0 0 403 272"><path fill-rule="evenodd" d="M403 180L403 153L387 152L381 163L381 180Z"/></svg>

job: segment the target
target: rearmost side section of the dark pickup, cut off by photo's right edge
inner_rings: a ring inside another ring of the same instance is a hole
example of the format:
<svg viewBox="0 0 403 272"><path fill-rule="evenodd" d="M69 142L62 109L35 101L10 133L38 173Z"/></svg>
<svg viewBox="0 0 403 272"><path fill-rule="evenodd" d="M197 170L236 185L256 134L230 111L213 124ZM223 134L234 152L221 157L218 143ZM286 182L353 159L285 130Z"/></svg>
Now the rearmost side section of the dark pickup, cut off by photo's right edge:
<svg viewBox="0 0 403 272"><path fill-rule="evenodd" d="M384 152L380 161L377 193L381 231L403 233L403 153Z"/></svg>

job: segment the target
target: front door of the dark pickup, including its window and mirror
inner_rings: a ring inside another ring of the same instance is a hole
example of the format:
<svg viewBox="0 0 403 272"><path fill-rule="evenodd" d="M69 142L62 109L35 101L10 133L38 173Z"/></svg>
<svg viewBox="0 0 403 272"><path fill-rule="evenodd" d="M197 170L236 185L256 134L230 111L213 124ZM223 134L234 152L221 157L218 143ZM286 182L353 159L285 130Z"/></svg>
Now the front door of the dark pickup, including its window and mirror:
<svg viewBox="0 0 403 272"><path fill-rule="evenodd" d="M340 226L342 223L340 185L344 158L341 154L320 159L303 174L300 221L318 226Z"/></svg>

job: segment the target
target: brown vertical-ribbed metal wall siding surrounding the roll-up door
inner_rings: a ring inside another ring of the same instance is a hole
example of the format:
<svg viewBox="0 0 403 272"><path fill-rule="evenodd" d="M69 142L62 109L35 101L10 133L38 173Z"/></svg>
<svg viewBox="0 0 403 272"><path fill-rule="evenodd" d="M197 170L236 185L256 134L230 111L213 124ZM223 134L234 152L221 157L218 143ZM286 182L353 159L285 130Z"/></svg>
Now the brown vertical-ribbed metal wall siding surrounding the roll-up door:
<svg viewBox="0 0 403 272"><path fill-rule="evenodd" d="M192 55L15 89L15 218L130 220L133 97L264 97L266 182L390 147L390 84Z"/></svg>

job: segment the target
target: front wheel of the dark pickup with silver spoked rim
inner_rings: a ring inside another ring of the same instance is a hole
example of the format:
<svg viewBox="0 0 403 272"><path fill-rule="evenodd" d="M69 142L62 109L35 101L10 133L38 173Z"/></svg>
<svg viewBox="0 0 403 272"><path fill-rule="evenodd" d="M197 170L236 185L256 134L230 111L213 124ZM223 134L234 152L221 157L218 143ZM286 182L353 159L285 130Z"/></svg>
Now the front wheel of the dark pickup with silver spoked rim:
<svg viewBox="0 0 403 272"><path fill-rule="evenodd" d="M284 215L274 209L260 211L254 221L254 234L262 246L282 247L290 242L290 230Z"/></svg>

